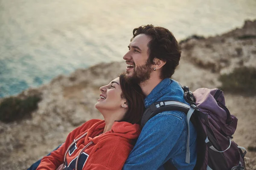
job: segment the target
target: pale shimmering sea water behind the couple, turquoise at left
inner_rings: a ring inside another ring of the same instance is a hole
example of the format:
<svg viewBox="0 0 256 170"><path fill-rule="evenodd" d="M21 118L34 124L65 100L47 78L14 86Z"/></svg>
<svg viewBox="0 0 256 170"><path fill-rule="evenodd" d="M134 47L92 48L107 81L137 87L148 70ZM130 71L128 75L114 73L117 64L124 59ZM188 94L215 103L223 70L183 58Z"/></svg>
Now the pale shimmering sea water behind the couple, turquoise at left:
<svg viewBox="0 0 256 170"><path fill-rule="evenodd" d="M211 36L256 19L255 9L256 0L0 0L0 97L121 61L135 27Z"/></svg>

